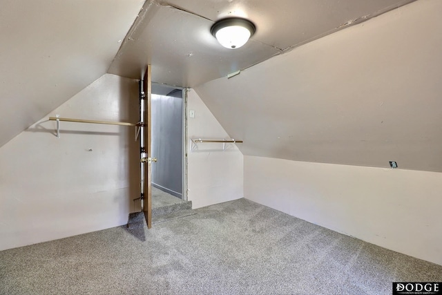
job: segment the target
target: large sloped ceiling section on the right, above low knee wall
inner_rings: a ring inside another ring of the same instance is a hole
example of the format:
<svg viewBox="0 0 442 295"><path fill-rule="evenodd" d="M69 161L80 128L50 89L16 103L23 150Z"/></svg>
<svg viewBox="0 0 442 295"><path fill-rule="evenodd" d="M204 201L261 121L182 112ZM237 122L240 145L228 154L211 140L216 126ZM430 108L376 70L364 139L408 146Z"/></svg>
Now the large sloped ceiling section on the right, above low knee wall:
<svg viewBox="0 0 442 295"><path fill-rule="evenodd" d="M442 1L195 86L244 155L442 172Z"/></svg>

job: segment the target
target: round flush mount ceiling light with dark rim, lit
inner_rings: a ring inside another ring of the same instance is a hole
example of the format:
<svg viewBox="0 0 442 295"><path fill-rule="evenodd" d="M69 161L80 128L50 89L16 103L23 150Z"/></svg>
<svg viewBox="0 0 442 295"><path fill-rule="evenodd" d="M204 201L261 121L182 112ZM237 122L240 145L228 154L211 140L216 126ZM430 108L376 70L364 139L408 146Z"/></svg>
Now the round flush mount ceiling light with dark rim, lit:
<svg viewBox="0 0 442 295"><path fill-rule="evenodd" d="M246 44L255 30L251 21L231 17L214 23L211 33L225 48L236 49Z"/></svg>

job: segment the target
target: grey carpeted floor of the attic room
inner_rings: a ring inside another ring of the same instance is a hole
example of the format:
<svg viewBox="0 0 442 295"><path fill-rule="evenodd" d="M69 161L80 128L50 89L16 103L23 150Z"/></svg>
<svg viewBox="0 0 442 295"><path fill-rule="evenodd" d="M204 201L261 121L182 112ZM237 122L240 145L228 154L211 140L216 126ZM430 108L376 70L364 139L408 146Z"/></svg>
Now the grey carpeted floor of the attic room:
<svg viewBox="0 0 442 295"><path fill-rule="evenodd" d="M240 199L0 252L0 294L392 294L442 266Z"/></svg>

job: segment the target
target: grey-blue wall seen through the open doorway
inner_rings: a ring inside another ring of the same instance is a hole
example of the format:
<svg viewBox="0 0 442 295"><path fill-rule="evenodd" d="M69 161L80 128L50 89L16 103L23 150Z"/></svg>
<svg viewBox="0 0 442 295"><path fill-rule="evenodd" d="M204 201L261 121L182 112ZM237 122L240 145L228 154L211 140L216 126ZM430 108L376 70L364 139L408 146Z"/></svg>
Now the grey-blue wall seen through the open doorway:
<svg viewBox="0 0 442 295"><path fill-rule="evenodd" d="M181 97L152 95L152 184L182 198L182 113Z"/></svg>

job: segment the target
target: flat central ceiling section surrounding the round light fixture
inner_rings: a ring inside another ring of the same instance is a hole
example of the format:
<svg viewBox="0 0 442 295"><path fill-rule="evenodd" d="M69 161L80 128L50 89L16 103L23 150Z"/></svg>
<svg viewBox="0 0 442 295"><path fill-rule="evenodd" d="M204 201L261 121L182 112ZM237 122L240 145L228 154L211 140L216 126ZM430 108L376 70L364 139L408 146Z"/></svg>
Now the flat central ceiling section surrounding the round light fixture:
<svg viewBox="0 0 442 295"><path fill-rule="evenodd" d="M195 87L412 1L148 0L108 73L140 79L151 64L154 82ZM223 48L210 28L225 17L253 21L256 34Z"/></svg>

